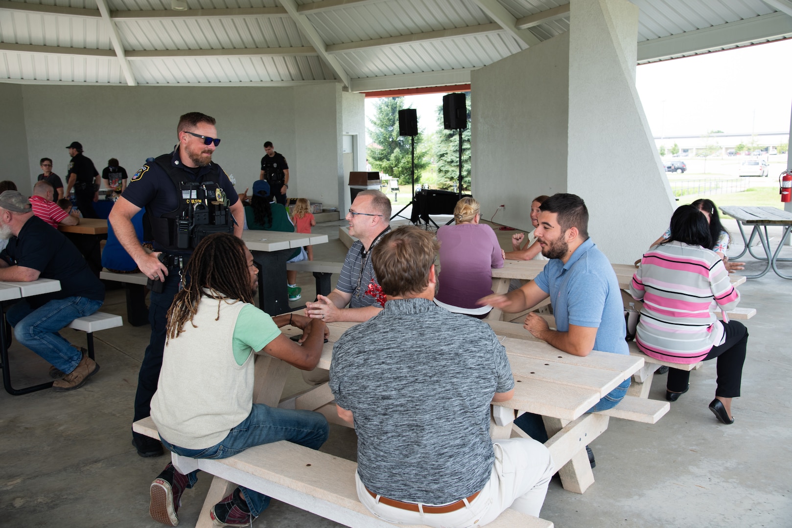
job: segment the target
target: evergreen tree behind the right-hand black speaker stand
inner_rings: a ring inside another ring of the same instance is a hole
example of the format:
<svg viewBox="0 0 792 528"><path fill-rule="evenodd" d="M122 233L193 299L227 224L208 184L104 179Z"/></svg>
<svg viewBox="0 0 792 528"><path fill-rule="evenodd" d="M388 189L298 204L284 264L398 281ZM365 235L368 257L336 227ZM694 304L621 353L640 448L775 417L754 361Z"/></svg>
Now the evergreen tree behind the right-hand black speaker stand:
<svg viewBox="0 0 792 528"><path fill-rule="evenodd" d="M462 131L462 186L470 191L470 92L465 93L465 105L467 128ZM437 107L437 123L440 125L435 145L437 180L440 187L451 189L459 181L459 131L445 130L442 105Z"/></svg>

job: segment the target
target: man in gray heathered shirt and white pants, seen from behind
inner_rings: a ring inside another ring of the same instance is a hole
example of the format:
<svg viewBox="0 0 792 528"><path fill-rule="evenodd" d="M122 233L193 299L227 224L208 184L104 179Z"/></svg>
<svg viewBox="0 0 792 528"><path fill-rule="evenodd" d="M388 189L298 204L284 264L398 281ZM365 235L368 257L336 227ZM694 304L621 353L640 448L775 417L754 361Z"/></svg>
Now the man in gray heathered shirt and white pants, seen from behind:
<svg viewBox="0 0 792 528"><path fill-rule="evenodd" d="M489 438L489 404L512 397L506 351L483 321L433 301L437 242L415 226L371 258L387 302L333 347L330 389L358 437L357 495L388 522L483 526L539 516L553 476L532 439Z"/></svg>

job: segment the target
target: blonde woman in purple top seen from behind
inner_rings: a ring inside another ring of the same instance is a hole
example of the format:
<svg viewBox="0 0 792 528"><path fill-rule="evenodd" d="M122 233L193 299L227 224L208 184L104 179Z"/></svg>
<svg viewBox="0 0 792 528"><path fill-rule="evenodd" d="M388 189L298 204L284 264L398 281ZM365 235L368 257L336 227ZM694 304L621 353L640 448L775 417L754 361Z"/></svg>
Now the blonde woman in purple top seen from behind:
<svg viewBox="0 0 792 528"><path fill-rule="evenodd" d="M483 319L492 306L477 300L492 294L492 268L503 268L503 250L493 228L479 224L478 202L463 198L454 208L455 226L437 230L440 277L435 302L446 310Z"/></svg>

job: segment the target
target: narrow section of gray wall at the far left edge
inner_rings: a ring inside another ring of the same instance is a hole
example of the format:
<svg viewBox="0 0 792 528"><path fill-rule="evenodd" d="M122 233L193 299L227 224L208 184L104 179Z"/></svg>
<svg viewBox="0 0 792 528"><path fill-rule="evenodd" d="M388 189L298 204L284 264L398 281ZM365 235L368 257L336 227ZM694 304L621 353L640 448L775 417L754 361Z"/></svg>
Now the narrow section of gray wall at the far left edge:
<svg viewBox="0 0 792 528"><path fill-rule="evenodd" d="M22 86L0 83L0 144L2 144L2 163L0 180L11 180L20 192L30 194L32 180L28 170L28 144L25 129L25 113L22 111ZM39 159L36 158L36 173L40 173Z"/></svg>

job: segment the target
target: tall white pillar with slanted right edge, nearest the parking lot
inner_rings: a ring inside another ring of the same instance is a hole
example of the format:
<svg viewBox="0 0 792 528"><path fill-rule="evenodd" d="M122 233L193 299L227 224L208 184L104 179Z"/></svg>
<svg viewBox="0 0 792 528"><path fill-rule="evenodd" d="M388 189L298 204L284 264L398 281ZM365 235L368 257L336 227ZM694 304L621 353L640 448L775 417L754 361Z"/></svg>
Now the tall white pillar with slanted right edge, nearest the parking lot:
<svg viewBox="0 0 792 528"><path fill-rule="evenodd" d="M568 189L620 264L640 258L676 207L635 89L637 32L638 7L626 0L571 2Z"/></svg>

